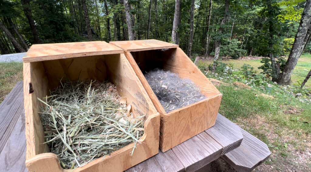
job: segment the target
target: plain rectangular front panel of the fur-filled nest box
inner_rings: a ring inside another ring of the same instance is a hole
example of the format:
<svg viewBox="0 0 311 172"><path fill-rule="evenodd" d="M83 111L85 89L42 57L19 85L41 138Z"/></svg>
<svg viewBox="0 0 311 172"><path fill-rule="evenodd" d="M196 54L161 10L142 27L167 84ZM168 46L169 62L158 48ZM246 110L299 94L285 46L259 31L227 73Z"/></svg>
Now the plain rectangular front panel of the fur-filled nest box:
<svg viewBox="0 0 311 172"><path fill-rule="evenodd" d="M174 110L165 115L160 149L165 152L214 126L222 94Z"/></svg>

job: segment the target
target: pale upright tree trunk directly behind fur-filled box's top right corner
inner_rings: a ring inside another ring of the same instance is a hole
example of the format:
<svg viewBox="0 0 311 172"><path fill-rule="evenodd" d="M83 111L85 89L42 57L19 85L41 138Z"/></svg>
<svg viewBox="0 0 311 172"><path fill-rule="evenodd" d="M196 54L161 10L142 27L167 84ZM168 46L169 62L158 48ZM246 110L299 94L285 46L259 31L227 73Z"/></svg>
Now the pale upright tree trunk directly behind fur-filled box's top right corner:
<svg viewBox="0 0 311 172"><path fill-rule="evenodd" d="M180 25L180 14L181 14L181 0L175 0L175 13L174 13L174 22L172 30L172 43L179 44L179 25Z"/></svg>

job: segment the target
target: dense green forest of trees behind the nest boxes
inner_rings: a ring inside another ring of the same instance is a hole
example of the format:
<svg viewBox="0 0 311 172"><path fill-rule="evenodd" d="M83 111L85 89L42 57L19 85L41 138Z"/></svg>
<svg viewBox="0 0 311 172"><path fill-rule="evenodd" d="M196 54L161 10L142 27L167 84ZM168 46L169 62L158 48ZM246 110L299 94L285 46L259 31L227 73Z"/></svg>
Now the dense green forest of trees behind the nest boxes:
<svg viewBox="0 0 311 172"><path fill-rule="evenodd" d="M0 0L0 51L26 52L32 44L157 39L179 44L189 57L267 57L262 69L272 81L288 84L289 78L278 78L286 74L285 58L308 5L305 0ZM311 53L308 35L305 31L304 53Z"/></svg>

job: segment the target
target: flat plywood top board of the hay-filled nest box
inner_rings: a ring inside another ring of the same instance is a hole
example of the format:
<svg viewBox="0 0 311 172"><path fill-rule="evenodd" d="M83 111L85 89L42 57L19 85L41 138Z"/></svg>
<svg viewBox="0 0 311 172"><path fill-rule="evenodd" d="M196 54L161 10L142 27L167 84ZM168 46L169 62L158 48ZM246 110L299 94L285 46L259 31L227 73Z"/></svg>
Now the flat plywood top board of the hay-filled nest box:
<svg viewBox="0 0 311 172"><path fill-rule="evenodd" d="M36 62L119 53L123 53L123 50L104 41L34 44L23 57L23 61Z"/></svg>

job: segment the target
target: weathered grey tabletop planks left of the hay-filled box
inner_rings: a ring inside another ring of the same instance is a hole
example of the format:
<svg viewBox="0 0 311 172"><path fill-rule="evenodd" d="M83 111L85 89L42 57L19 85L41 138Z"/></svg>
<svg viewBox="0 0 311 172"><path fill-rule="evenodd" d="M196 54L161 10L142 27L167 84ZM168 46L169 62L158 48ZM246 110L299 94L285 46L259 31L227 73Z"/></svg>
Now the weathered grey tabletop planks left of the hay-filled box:
<svg viewBox="0 0 311 172"><path fill-rule="evenodd" d="M6 106L10 106L10 110L14 110L14 113L6 114L8 116L10 115L12 120L7 126L2 138L0 139L1 171L27 171L25 165L26 137L23 100L23 84L22 81L20 81L13 88L12 94L9 94L2 102ZM4 109L5 108L3 106L0 107L0 110Z"/></svg>

